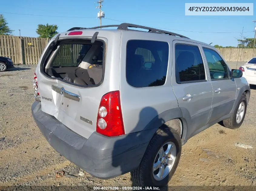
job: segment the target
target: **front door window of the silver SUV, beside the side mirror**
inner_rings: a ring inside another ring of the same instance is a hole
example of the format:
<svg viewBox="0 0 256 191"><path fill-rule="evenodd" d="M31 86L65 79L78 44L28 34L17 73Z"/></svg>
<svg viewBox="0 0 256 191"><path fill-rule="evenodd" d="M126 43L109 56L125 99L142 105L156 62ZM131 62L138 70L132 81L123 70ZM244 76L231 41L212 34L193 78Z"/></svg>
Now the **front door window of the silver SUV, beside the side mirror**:
<svg viewBox="0 0 256 191"><path fill-rule="evenodd" d="M203 48L212 80L228 79L228 66L214 50Z"/></svg>

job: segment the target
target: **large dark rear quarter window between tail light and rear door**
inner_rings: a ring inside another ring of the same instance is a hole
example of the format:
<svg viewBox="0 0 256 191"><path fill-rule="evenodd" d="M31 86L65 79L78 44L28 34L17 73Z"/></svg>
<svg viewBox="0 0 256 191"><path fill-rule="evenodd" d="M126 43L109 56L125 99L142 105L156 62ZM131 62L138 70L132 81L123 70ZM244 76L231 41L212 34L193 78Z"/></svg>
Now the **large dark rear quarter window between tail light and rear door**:
<svg viewBox="0 0 256 191"><path fill-rule="evenodd" d="M165 84L169 58L167 42L130 40L126 52L126 79L136 88Z"/></svg>

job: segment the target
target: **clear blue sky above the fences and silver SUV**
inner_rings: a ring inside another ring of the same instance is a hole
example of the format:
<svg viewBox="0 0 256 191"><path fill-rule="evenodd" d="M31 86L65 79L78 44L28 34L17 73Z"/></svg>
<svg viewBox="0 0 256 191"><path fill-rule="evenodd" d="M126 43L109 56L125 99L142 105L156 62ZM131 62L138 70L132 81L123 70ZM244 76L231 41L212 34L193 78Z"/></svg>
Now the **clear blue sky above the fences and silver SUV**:
<svg viewBox="0 0 256 191"><path fill-rule="evenodd" d="M10 3L11 2L11 3ZM256 2L226 0L225 3L253 3L254 16L185 16L185 3L221 3L219 0L105 0L102 25L128 22L175 32L204 43L237 46L237 39L254 38ZM96 0L0 0L3 14L15 36L38 37L38 24L57 24L58 32L72 27L99 26ZM38 16L41 15L41 16ZM243 28L244 27L244 28Z"/></svg>

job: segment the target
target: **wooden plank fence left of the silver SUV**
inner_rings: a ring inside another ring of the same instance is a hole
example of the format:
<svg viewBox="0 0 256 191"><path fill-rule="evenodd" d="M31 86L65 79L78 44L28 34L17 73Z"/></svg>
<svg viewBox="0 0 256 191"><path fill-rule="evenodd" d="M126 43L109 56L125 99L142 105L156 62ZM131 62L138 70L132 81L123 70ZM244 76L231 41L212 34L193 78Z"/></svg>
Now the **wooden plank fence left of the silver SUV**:
<svg viewBox="0 0 256 191"><path fill-rule="evenodd" d="M47 38L0 35L0 56L12 59L14 64L37 64L48 41Z"/></svg>

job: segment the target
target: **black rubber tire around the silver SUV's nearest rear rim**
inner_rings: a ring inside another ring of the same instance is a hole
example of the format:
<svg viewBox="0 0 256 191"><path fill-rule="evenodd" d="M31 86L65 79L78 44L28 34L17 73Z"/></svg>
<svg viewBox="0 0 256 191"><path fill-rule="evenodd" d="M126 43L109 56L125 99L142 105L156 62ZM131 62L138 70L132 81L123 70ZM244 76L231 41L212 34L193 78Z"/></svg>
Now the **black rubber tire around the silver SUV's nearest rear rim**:
<svg viewBox="0 0 256 191"><path fill-rule="evenodd" d="M163 180L155 180L153 177L153 164L159 149L167 142L173 142L176 146L176 158L169 174ZM147 150L139 167L131 171L131 180L137 186L166 186L174 174L181 157L181 138L177 131L165 126L158 129L148 144Z"/></svg>

